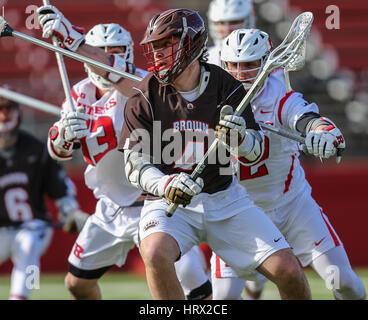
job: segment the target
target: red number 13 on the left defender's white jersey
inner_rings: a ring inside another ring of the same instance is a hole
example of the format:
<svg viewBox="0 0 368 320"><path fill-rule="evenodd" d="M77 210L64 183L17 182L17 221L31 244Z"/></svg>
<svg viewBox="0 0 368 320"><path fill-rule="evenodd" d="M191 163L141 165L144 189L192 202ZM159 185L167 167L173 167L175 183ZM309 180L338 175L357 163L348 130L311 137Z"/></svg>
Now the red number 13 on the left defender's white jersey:
<svg viewBox="0 0 368 320"><path fill-rule="evenodd" d="M81 139L82 150L87 163L95 166L106 153L115 149L118 143L114 125L110 117L99 117L96 120L88 120L87 126L89 125L92 134L98 130L102 131L102 134L96 136L96 139Z"/></svg>

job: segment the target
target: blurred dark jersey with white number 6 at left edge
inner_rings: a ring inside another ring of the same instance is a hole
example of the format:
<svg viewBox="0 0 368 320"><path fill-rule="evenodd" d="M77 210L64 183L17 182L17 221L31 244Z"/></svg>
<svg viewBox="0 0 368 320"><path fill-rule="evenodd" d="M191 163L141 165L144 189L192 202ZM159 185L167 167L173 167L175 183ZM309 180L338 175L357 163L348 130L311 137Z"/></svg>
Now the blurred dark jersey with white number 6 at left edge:
<svg viewBox="0 0 368 320"><path fill-rule="evenodd" d="M51 221L44 196L67 195L65 171L48 155L44 143L20 131L11 157L0 153L0 227L24 221Z"/></svg>

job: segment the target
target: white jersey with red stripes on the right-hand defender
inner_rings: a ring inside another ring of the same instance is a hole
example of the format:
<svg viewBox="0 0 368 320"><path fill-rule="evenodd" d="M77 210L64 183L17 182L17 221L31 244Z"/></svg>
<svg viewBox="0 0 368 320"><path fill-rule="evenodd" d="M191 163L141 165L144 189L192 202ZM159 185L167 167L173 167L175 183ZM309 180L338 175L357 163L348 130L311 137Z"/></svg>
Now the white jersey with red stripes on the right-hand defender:
<svg viewBox="0 0 368 320"><path fill-rule="evenodd" d="M317 105L306 102L302 94L286 92L282 69L269 76L251 106L257 121L294 133L300 116L318 112ZM269 211L292 200L308 182L298 159L298 143L266 130L264 133L265 151L261 160L250 167L239 165L238 178L255 204Z"/></svg>

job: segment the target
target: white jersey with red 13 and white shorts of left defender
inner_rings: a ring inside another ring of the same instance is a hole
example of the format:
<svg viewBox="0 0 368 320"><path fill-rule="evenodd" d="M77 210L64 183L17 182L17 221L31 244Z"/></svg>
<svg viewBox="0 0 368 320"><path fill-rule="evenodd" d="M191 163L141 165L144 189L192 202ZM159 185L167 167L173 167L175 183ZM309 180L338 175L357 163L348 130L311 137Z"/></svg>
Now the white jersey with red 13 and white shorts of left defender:
<svg viewBox="0 0 368 320"><path fill-rule="evenodd" d="M83 106L89 116L89 133L80 140L88 163L84 177L99 201L73 246L69 263L82 270L122 266L129 250L138 244L141 211L140 206L129 208L141 191L126 179L124 157L117 151L128 98L117 90L99 97L89 78L73 86L72 97L75 106Z"/></svg>

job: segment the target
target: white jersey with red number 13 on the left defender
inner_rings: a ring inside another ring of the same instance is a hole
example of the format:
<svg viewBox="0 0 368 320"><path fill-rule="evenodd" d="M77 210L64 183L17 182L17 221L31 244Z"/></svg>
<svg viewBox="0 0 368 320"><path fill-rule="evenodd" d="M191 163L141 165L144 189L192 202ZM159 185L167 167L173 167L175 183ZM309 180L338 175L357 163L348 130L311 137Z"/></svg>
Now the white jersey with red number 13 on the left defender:
<svg viewBox="0 0 368 320"><path fill-rule="evenodd" d="M139 72L146 74L143 70ZM119 206L131 205L141 190L126 179L123 153L117 150L128 97L117 90L97 97L96 87L88 78L73 86L72 97L75 105L83 106L90 118L89 133L80 141L88 163L84 173L86 185L97 199L107 197Z"/></svg>

